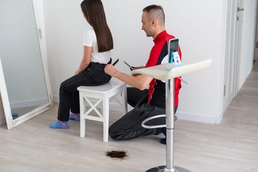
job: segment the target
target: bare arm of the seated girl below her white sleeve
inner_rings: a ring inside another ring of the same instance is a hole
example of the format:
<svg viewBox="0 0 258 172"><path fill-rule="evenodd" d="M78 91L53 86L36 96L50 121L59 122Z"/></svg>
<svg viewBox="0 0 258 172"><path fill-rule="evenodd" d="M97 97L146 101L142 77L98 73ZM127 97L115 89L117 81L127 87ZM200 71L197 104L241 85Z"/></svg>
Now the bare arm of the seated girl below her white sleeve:
<svg viewBox="0 0 258 172"><path fill-rule="evenodd" d="M81 61L79 68L75 72L75 75L81 73L86 69L86 67L88 67L90 63L90 58L91 58L91 51L92 51L92 47L84 46L84 57Z"/></svg>

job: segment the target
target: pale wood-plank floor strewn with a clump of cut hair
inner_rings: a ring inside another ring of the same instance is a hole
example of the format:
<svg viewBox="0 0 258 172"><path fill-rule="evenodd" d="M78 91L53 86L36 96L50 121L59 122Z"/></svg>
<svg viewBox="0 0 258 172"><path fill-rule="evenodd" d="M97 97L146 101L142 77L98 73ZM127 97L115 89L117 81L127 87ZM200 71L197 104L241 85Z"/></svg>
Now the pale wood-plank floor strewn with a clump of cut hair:
<svg viewBox="0 0 258 172"><path fill-rule="evenodd" d="M258 65L256 65L258 66ZM110 112L110 123L122 114ZM7 130L0 126L0 172L145 172L166 164L163 135L103 143L102 123L86 121L50 129L55 107ZM178 119L174 165L192 172L258 172L258 67L233 99L219 125ZM128 158L112 159L106 151L125 150Z"/></svg>

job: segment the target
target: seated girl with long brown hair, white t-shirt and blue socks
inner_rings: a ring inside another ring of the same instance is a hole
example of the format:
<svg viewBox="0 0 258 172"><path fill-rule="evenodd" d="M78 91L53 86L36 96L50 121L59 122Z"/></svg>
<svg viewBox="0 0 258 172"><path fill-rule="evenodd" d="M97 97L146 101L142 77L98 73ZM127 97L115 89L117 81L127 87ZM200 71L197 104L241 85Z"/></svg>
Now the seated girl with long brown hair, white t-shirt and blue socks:
<svg viewBox="0 0 258 172"><path fill-rule="evenodd" d="M75 75L61 83L57 121L50 128L69 128L69 119L80 121L78 86L99 86L108 83L111 76L104 68L111 63L110 50L113 38L106 21L101 0L84 0L81 3L84 18L92 27L84 34L84 55ZM72 114L69 115L70 109Z"/></svg>

